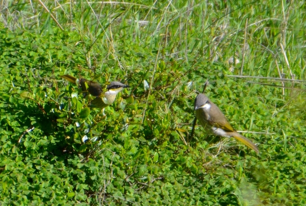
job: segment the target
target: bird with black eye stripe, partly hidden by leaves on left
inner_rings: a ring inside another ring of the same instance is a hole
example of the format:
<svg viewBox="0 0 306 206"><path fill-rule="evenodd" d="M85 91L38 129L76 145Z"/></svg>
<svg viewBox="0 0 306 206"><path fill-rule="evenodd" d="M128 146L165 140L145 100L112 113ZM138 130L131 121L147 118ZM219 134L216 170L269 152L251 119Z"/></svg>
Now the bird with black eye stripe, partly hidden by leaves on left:
<svg viewBox="0 0 306 206"><path fill-rule="evenodd" d="M71 76L69 74L60 76L61 78L64 78L65 80L71 83L77 84L77 78L75 78L74 76ZM129 85L124 85L120 82L114 81L107 86L107 91L101 95L102 87L99 83L81 78L80 84L83 92L88 91L92 96L96 97L90 102L90 107L100 109L104 109L109 105L113 104L117 94L124 88L130 87Z"/></svg>

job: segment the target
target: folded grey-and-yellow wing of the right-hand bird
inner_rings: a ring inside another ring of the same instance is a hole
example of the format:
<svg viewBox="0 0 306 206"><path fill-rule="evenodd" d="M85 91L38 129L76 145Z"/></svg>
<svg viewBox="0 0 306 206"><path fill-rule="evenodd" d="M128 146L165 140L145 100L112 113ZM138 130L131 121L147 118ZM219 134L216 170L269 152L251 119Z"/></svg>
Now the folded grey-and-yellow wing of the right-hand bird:
<svg viewBox="0 0 306 206"><path fill-rule="evenodd" d="M227 132L235 132L234 128L226 120L220 109L212 101L209 100L209 103L211 104L211 108L208 121L217 128L222 128L222 130Z"/></svg>

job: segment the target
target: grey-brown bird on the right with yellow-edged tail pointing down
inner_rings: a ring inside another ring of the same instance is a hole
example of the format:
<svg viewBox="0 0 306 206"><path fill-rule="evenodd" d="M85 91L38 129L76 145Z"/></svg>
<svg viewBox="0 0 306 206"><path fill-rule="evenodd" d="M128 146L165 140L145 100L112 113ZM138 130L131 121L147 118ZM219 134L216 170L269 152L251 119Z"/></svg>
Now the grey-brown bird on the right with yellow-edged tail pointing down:
<svg viewBox="0 0 306 206"><path fill-rule="evenodd" d="M246 137L240 135L234 130L226 120L224 114L220 111L205 94L198 94L194 101L195 116L200 125L210 134L221 137L234 137L249 148L259 153L258 147Z"/></svg>

